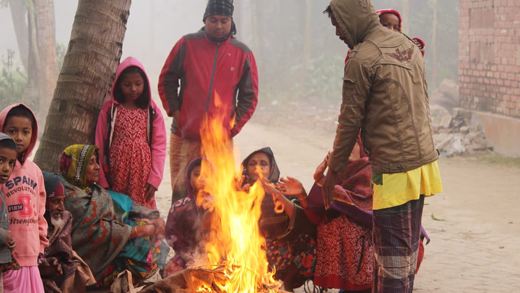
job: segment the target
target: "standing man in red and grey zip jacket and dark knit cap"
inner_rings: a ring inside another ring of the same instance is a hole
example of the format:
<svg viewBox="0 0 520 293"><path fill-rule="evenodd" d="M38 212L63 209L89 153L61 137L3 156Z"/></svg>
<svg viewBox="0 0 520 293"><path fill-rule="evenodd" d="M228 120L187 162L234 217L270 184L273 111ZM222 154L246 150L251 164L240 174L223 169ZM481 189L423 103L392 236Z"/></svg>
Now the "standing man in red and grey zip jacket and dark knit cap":
<svg viewBox="0 0 520 293"><path fill-rule="evenodd" d="M172 204L186 197L184 178L179 175L184 174L188 162L201 156L200 127L204 116L212 118L224 111L222 127L232 138L256 108L255 58L250 48L235 38L237 30L232 17L232 0L209 0L204 27L177 41L159 76L163 107L173 117Z"/></svg>

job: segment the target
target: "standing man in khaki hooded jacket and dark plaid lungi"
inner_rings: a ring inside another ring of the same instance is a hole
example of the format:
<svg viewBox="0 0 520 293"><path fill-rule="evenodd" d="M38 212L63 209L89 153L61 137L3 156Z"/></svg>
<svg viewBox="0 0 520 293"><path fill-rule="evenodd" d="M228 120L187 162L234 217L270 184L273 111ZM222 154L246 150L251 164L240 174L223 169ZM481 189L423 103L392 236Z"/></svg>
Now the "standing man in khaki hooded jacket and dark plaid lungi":
<svg viewBox="0 0 520 293"><path fill-rule="evenodd" d="M323 201L333 201L361 131L372 165L374 291L411 292L425 196L442 191L421 52L380 25L370 0L332 0L324 11L351 49Z"/></svg>

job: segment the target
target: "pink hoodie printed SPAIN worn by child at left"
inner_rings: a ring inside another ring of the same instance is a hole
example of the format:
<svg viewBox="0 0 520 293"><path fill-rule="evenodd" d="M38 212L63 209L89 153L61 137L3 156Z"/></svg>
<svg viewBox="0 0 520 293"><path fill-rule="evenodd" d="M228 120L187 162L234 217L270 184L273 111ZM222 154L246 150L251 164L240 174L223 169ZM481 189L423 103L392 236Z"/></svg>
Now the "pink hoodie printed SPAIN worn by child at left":
<svg viewBox="0 0 520 293"><path fill-rule="evenodd" d="M19 105L27 107L24 104L13 104L0 112L0 130L4 129L7 113ZM23 154L23 162L16 163L11 177L2 186L9 212L9 230L16 241L13 254L20 266L38 265L38 254L43 253L49 245L47 221L43 217L46 194L42 170L27 159L38 138L38 123L34 113L31 113L34 118L31 142Z"/></svg>

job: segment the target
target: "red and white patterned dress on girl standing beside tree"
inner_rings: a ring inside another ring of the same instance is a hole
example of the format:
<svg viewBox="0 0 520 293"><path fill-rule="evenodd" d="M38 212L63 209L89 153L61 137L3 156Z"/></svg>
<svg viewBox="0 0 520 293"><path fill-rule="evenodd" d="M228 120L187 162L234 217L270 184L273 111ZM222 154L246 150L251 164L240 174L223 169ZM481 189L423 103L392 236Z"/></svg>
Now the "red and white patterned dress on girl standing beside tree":
<svg viewBox="0 0 520 293"><path fill-rule="evenodd" d="M147 140L147 109L118 107L110 145L112 190L127 194L137 205L157 209L155 198L145 199L152 158Z"/></svg>

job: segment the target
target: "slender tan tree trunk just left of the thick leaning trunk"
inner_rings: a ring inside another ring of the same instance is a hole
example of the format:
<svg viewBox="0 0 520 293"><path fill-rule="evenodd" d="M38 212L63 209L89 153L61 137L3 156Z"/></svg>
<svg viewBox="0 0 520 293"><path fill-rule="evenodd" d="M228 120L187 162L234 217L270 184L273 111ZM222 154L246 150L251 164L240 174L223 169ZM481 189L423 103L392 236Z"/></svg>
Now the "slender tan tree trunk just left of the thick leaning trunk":
<svg viewBox="0 0 520 293"><path fill-rule="evenodd" d="M49 111L58 80L58 57L56 56L56 26L54 0L32 0L36 20L36 41L40 68L38 68L38 90L40 108L38 118L43 119ZM42 121L45 122L45 121Z"/></svg>

